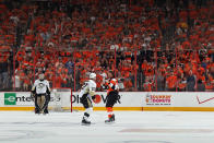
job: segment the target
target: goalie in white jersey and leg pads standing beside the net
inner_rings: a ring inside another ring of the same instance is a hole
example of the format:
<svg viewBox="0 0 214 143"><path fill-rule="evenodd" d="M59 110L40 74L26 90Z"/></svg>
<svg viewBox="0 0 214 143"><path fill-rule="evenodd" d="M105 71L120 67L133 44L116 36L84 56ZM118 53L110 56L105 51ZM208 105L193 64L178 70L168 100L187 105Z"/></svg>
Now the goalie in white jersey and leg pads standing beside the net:
<svg viewBox="0 0 214 143"><path fill-rule="evenodd" d="M45 80L44 73L40 73L39 79L34 82L32 87L32 97L35 102L35 114L48 114L48 103L50 100L49 82Z"/></svg>

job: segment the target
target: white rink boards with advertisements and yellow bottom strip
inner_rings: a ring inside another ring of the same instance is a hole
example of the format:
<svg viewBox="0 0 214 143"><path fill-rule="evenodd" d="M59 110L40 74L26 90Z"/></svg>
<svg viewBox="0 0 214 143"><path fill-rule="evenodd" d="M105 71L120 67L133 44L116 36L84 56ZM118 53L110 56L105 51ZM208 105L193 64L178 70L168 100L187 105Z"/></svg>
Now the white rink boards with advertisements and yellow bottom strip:
<svg viewBox="0 0 214 143"><path fill-rule="evenodd" d="M72 93L72 109L83 110L79 93ZM94 110L106 110L106 92L97 92ZM0 92L0 110L34 110L28 92ZM51 94L50 108L71 108L71 92ZM214 92L120 92L115 110L214 111Z"/></svg>

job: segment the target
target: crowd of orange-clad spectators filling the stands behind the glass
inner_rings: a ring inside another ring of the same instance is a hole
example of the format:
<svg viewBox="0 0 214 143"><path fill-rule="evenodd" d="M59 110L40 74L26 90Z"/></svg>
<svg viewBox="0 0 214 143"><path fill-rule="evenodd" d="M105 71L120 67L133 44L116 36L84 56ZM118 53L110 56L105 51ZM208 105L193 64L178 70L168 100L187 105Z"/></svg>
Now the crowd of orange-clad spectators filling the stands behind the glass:
<svg viewBox="0 0 214 143"><path fill-rule="evenodd" d="M0 3L0 90L214 91L213 0L48 0Z"/></svg>

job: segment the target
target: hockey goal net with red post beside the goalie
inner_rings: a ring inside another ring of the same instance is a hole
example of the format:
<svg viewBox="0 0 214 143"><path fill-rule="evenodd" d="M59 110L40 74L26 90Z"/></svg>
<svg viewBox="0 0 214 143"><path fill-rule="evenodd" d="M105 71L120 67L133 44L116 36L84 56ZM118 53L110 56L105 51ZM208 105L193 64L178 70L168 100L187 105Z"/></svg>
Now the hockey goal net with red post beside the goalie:
<svg viewBox="0 0 214 143"><path fill-rule="evenodd" d="M52 88L48 109L54 112L72 112L72 90Z"/></svg>

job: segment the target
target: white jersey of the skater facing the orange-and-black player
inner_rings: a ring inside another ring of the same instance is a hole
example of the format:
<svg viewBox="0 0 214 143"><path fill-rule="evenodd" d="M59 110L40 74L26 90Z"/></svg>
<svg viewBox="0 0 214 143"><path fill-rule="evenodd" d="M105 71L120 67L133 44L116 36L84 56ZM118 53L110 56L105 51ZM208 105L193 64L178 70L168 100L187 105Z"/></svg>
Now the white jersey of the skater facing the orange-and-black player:
<svg viewBox="0 0 214 143"><path fill-rule="evenodd" d="M91 98L95 94L96 91L96 83L93 80L86 81L80 92L80 97L82 97L84 94L87 94L87 96Z"/></svg>

